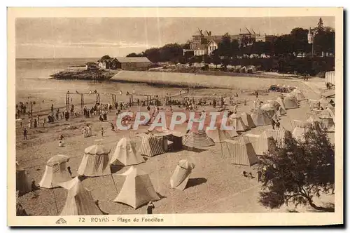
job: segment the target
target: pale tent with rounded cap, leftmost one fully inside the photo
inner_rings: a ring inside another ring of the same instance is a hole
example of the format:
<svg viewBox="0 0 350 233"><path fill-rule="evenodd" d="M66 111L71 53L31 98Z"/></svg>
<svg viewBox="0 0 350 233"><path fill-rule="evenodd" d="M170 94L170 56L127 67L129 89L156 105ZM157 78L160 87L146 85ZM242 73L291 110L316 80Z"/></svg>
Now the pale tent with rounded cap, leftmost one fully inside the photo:
<svg viewBox="0 0 350 233"><path fill-rule="evenodd" d="M39 186L47 189L59 186L62 187L61 184L63 182L71 180L71 175L66 168L66 163L68 161L69 157L62 154L51 157L46 163L45 173L39 182Z"/></svg>

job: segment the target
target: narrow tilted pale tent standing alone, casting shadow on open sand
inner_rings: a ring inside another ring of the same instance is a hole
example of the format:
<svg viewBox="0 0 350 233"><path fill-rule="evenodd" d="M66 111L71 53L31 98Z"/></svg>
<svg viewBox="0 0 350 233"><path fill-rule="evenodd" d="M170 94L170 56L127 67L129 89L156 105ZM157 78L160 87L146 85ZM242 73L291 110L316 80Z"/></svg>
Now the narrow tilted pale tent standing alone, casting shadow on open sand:
<svg viewBox="0 0 350 233"><path fill-rule="evenodd" d="M187 159L180 160L175 168L172 178L170 178L170 186L174 189L185 189L193 168L195 168L195 164L192 162Z"/></svg>

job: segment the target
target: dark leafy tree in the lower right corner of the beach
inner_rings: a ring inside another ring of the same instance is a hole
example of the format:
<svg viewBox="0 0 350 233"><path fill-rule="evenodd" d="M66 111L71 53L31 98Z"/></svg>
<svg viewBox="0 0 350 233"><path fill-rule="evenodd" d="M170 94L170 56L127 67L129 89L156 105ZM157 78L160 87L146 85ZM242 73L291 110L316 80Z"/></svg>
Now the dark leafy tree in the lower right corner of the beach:
<svg viewBox="0 0 350 233"><path fill-rule="evenodd" d="M287 132L285 145L271 149L261 158L265 183L260 203L269 208L283 204L307 205L320 211L334 208L316 206L314 197L328 193L335 181L334 145L320 124L307 126L304 140L295 140Z"/></svg>

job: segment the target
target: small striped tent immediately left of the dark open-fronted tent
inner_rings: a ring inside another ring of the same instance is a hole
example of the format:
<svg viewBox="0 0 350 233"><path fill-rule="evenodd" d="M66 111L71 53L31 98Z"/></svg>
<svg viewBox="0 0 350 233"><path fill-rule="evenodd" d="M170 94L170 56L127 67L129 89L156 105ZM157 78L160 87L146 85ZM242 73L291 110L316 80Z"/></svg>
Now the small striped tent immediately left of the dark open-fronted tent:
<svg viewBox="0 0 350 233"><path fill-rule="evenodd" d="M162 138L157 138L151 133L144 135L142 137L139 152L148 157L153 157L157 154L164 154L165 150L163 149Z"/></svg>

